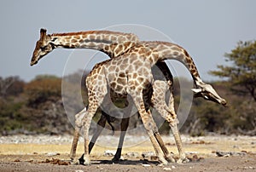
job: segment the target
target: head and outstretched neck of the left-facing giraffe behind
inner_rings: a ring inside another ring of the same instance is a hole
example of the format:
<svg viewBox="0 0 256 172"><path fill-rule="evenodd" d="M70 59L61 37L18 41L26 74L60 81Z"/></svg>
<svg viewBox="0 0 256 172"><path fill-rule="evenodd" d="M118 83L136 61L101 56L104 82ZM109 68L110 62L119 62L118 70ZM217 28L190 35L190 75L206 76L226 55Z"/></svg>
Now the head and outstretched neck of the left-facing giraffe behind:
<svg viewBox="0 0 256 172"><path fill-rule="evenodd" d="M32 54L31 66L37 64L38 60L57 48L96 49L108 54L110 58L114 58L120 54L124 54L138 42L136 35L122 32L90 31L54 33L48 35L46 32L46 29L42 28L40 30L40 38ZM164 145L160 136L157 135L156 137L158 137L158 141ZM166 150L166 147L164 147L164 149Z"/></svg>

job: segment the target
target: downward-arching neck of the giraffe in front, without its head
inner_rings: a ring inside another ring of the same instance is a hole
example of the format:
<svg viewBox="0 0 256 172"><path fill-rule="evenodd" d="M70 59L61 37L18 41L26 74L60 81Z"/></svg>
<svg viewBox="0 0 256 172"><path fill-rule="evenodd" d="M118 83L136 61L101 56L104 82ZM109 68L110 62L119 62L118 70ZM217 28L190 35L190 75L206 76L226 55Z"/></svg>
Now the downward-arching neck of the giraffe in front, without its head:
<svg viewBox="0 0 256 172"><path fill-rule="evenodd" d="M143 43L143 42L142 42ZM163 60L178 60L183 63L184 66L189 70L191 76L193 77L196 87L201 87L205 83L201 80L199 72L196 69L195 63L188 52L182 47L174 43L166 42L144 42L146 46L153 49L153 55L151 61L155 63Z"/></svg>

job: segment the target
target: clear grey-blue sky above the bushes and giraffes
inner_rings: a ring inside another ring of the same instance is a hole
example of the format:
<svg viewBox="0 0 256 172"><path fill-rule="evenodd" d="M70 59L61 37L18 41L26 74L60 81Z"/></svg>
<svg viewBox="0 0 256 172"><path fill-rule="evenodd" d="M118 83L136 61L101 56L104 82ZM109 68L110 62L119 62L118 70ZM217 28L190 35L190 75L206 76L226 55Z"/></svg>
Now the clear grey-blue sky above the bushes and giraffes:
<svg viewBox="0 0 256 172"><path fill-rule="evenodd" d="M256 1L253 0L3 0L0 5L0 76L20 76L26 81L39 74L61 77L70 61L86 66L107 59L104 54L97 54L96 59L88 61L85 56L95 54L95 50L57 49L40 60L38 65L30 66L41 27L53 33L99 30L106 27L115 30L119 27L113 27L114 25L125 24L127 32L132 31L141 39L150 39L151 36L143 37L143 32L133 31L127 26L137 24L147 26L146 30L158 30L170 37L172 42L187 49L203 80L217 79L207 72L215 70L217 65L225 64L224 53L234 49L240 40L255 39L255 8ZM83 56L82 59L79 54ZM97 56L102 56L103 59ZM176 71L178 75L188 76L184 68Z"/></svg>

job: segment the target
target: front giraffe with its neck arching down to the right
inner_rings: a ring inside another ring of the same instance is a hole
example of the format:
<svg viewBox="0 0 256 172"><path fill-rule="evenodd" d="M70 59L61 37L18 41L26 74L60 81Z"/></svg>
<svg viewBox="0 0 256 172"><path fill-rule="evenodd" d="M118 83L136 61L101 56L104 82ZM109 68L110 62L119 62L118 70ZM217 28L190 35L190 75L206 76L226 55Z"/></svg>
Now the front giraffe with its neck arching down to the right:
<svg viewBox="0 0 256 172"><path fill-rule="evenodd" d="M78 120L79 123L76 123L77 131L84 126L84 156L82 157L84 164L90 163L88 147L90 121L97 108L102 105L108 92L110 94L114 92L115 96L120 97L131 95L154 146L154 150L160 162L165 163L164 156L160 153L158 142L155 140L155 130L150 126L152 125L152 117L144 104L144 99L145 95L148 95L148 86L152 84L154 88L151 67L158 61L173 58L180 60L188 67L197 86L195 90L196 94L201 94L206 100L213 100L223 106L226 105L226 100L221 98L211 85L201 81L192 58L183 48L177 44L165 42L137 43L137 46L129 49L126 54L97 64L86 78L86 85L89 90L89 106L84 116ZM108 87L110 90L108 90ZM201 93L198 91L199 89L201 89ZM144 92L145 90L146 93ZM153 96L152 100L154 102L153 106L169 123L177 143L178 151L180 152L180 159L184 159L185 155L182 150L182 142L177 129L177 115L174 109L163 106L160 104L159 99L155 99L155 97ZM160 97L162 96L160 95Z"/></svg>

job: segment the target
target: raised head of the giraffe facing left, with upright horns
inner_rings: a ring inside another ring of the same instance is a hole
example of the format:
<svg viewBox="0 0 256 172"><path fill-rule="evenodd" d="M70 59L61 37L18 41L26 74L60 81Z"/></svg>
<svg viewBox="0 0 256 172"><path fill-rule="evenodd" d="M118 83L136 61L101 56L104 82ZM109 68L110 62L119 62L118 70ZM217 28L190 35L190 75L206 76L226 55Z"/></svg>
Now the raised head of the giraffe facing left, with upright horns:
<svg viewBox="0 0 256 172"><path fill-rule="evenodd" d="M32 55L30 65L33 66L38 63L44 55L49 54L54 49L54 45L51 43L51 37L46 35L46 29L40 30L40 38L36 44L36 48Z"/></svg>

